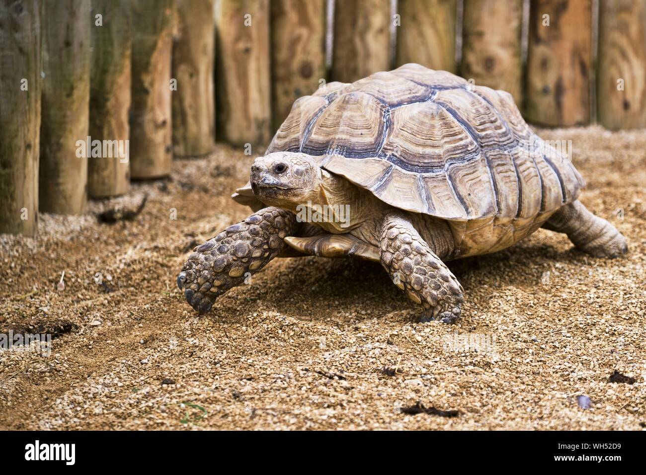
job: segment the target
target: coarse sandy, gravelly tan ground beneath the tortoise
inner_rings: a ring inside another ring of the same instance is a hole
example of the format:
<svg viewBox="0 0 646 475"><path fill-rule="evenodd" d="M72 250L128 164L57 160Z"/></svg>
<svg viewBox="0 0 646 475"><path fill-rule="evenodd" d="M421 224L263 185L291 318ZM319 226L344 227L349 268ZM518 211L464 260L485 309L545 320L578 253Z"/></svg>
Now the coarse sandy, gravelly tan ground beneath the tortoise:
<svg viewBox="0 0 646 475"><path fill-rule="evenodd" d="M84 216L41 215L35 239L1 236L0 333L57 336L48 357L0 351L0 428L643 428L646 132L540 133L572 140L581 200L630 253L594 259L539 230L453 262L467 299L453 325L417 322L378 264L313 257L271 262L198 317L176 275L249 214L229 195L252 158L224 145ZM133 221L97 222L144 193ZM418 401L458 414L402 412Z"/></svg>

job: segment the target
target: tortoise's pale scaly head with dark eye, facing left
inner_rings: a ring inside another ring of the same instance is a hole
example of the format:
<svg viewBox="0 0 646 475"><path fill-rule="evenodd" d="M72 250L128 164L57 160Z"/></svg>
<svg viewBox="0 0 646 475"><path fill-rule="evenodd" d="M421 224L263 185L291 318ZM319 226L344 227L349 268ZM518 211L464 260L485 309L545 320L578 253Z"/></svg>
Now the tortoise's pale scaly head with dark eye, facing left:
<svg viewBox="0 0 646 475"><path fill-rule="evenodd" d="M256 158L249 181L258 200L270 206L292 208L317 195L322 171L310 155L275 152Z"/></svg>

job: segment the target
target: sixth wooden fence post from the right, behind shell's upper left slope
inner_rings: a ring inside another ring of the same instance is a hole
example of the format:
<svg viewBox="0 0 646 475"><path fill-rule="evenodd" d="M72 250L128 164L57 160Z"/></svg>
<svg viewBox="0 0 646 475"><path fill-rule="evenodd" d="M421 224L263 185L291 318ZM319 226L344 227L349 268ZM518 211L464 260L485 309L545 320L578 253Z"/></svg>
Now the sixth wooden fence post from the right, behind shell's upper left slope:
<svg viewBox="0 0 646 475"><path fill-rule="evenodd" d="M271 84L273 130L300 96L325 79L325 0L273 0L271 3Z"/></svg>

